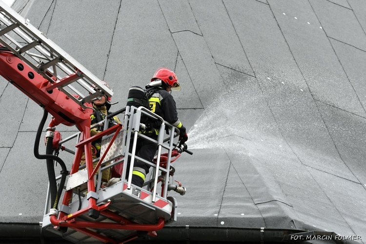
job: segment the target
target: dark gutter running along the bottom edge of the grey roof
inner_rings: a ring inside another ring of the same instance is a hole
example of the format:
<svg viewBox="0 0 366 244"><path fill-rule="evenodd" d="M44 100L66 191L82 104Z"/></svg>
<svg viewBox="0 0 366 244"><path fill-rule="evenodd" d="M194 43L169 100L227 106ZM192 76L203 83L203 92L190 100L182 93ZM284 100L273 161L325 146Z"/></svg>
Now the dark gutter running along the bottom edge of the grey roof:
<svg viewBox="0 0 366 244"><path fill-rule="evenodd" d="M42 231L40 223L1 223L0 238L45 238L62 240L61 235ZM165 226L156 237L146 236L151 243L161 241L205 241L205 242L252 242L252 243L313 243L312 241L333 241L336 244L360 244L360 242L335 238L339 236L328 231L308 231L284 228L241 228L222 226ZM342 236L339 236L342 237ZM141 238L139 238L141 239ZM137 240L139 240L137 239Z"/></svg>

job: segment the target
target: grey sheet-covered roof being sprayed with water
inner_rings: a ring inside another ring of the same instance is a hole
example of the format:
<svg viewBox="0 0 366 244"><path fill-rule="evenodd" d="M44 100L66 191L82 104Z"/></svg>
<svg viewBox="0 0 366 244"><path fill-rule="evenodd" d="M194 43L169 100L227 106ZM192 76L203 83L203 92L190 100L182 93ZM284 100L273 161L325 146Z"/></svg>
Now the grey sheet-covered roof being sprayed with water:
<svg viewBox="0 0 366 244"><path fill-rule="evenodd" d="M114 111L157 68L175 70L194 154L175 163L187 193L175 196L174 225L325 230L365 243L365 1L16 0L13 9L109 83ZM37 223L42 109L1 81L0 222Z"/></svg>

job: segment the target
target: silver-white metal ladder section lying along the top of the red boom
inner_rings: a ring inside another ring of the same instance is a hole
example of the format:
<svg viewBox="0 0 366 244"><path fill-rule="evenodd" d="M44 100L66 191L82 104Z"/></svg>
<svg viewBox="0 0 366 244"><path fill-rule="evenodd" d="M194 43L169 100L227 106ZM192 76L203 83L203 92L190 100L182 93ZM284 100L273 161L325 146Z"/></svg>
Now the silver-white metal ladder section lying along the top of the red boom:
<svg viewBox="0 0 366 244"><path fill-rule="evenodd" d="M98 96L113 95L99 78L1 0L0 24L5 26L0 26L0 43L53 84L47 91L60 89L83 108Z"/></svg>

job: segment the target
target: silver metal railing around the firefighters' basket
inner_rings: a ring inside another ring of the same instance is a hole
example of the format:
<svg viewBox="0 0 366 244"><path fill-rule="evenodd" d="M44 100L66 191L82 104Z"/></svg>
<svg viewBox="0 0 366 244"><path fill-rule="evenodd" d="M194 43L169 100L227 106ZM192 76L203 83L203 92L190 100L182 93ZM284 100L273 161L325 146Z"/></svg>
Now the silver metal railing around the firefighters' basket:
<svg viewBox="0 0 366 244"><path fill-rule="evenodd" d="M155 113L152 113L151 111L140 107L140 108L136 108L136 107L126 107L120 111L114 112L108 116L105 117L105 119L100 122L99 124L93 125L91 127L95 128L97 126L100 125L104 125L104 129L107 129L110 126L110 118L112 118L113 116L116 116L118 114L123 114L123 119L122 119L122 125L123 128L120 131L120 135L122 137L122 139L120 138L120 142L119 145L115 145L117 147L117 152L114 153L114 155L112 155L112 157L108 158L105 157L104 160L102 161L99 169L97 170L97 173L99 176L102 176L102 172L110 169L114 166L117 166L118 164L123 163L123 171L122 171L122 176L121 176L121 180L127 180L127 184L128 184L128 188L131 188L131 179L132 179L132 169L133 169L133 165L135 163L136 160L139 160L140 162L143 162L147 165L149 165L151 167L151 175L153 175L153 179L150 180L150 182L152 181L153 183L149 184L149 187L152 186L153 189L153 193L152 193L152 202L156 201L156 196L157 194L157 185L158 185L158 178L161 175L166 175L169 176L169 169L170 169L170 160L171 160L171 153L172 150L174 148L173 146L173 140L174 137L176 137L179 134L179 130L173 126L170 123L167 123L166 121L163 120L163 118L161 118L160 116L156 115ZM142 116L147 116L150 119L154 120L160 120L162 122L162 125L159 128L159 134L158 134L158 139L154 140L146 135L144 135L142 132L142 128L144 127L144 125L141 123L141 117ZM168 132L168 133L165 133ZM176 133L178 132L178 133ZM105 147L105 145L107 145L107 143L110 143L110 138L112 138L112 136L114 135L114 133L103 136L102 137L102 148L103 146ZM70 143L71 141L75 140L76 143L79 142L80 139L80 132L75 133L71 136L68 136L64 139L62 139L59 143L59 150L65 151L67 153L70 154L74 154L75 155L75 151L73 150L72 147L67 148L66 146L64 146L66 143ZM156 155L157 158L157 162L149 162L141 157L138 157L136 155L136 143L137 140L148 140L150 142L156 143L158 145L158 152ZM129 148L130 148L130 144L132 143L132 152L129 152ZM166 162L166 166L164 167L160 167L160 155L162 153L162 151L165 151L168 153L168 160ZM105 152L108 153L108 152ZM104 152L101 150L101 156L104 154ZM127 172L127 158L130 157L131 158L131 162L129 162L130 164L130 170L129 172ZM93 160L93 163L99 162L100 157L96 158ZM79 171L85 169L86 164L82 164L79 166ZM60 180L61 176L56 177L56 180ZM98 180L96 182L96 189L101 189L101 181L102 177L98 177ZM168 180L168 179L166 179ZM168 184L162 184L163 189L161 192L161 197L163 197L164 199L167 198L167 186ZM65 189L67 187L64 187ZM150 189L148 189L150 190ZM96 190L97 192L97 190ZM45 214L48 213L49 211L49 189L48 189L48 193L46 196L46 204L45 204Z"/></svg>

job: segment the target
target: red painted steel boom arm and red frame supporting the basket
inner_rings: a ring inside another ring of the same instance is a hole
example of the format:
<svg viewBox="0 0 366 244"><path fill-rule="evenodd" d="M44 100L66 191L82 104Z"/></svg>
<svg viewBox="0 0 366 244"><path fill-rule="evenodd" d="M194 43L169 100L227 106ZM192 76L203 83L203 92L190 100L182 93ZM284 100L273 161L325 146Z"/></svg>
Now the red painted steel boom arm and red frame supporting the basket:
<svg viewBox="0 0 366 244"><path fill-rule="evenodd" d="M1 45L0 45L1 47ZM20 89L25 95L39 104L42 108L48 111L53 118L49 123L49 127L55 127L59 124L64 124L66 126L76 127L81 132L80 141L76 145L76 152L74 161L71 167L70 175L75 174L79 170L81 157L85 155L85 164L87 168L87 173L89 179L92 179L95 173L97 172L99 166L102 163L102 160L105 156L105 153L102 155L97 167L93 170L93 158L91 151L91 142L93 140L99 139L104 135L115 133L112 137L110 145L113 143L117 134L122 129L122 125L116 125L112 128L109 128L102 133L99 133L95 136L90 136L90 115L92 114L92 109L82 109L79 104L77 104L74 100L70 99L66 96L61 90L57 89L57 87L72 82L77 78L76 73L71 74L65 77L59 84L52 84L47 79L45 79L41 74L37 73L33 68L29 67L25 62L21 61L17 56L8 51L0 52L0 75L3 76L6 80L8 80L15 87ZM50 75L50 74L49 74ZM55 78L55 77L54 77ZM52 79L52 77L51 77ZM54 79L56 80L56 78ZM87 107L92 107L91 104L87 104ZM108 146L107 150L109 149ZM179 155L175 155L179 156ZM164 157L165 161L167 157ZM173 160L174 161L174 160ZM164 165L165 166L165 165ZM88 191L95 191L95 183L94 180L89 180L87 182ZM62 199L62 204L65 206L69 205L69 199L72 198L72 190L66 191L64 193L64 197ZM89 198L88 207L83 208L73 214L66 214L64 212L59 213L59 216L50 215L50 221L55 226L65 226L70 227L76 231L79 231L85 235L91 236L97 240L100 240L104 243L119 243L120 241L112 240L108 237L105 237L97 232L94 232L87 228L92 229L122 229L122 230L141 230L147 231L150 235L156 235L155 231L158 231L163 228L165 220L163 218L159 218L156 224L139 224L133 223L129 220L123 218L122 216L113 213L108 210L108 206L110 202L98 206L96 204L96 199L93 197ZM161 204L160 204L161 203ZM166 205L167 202L157 201L155 205ZM90 209L95 209L103 216L115 222L91 222L91 221L79 221L76 220L78 216L82 214L86 214ZM131 241L137 237L137 234L133 234L123 242Z"/></svg>

